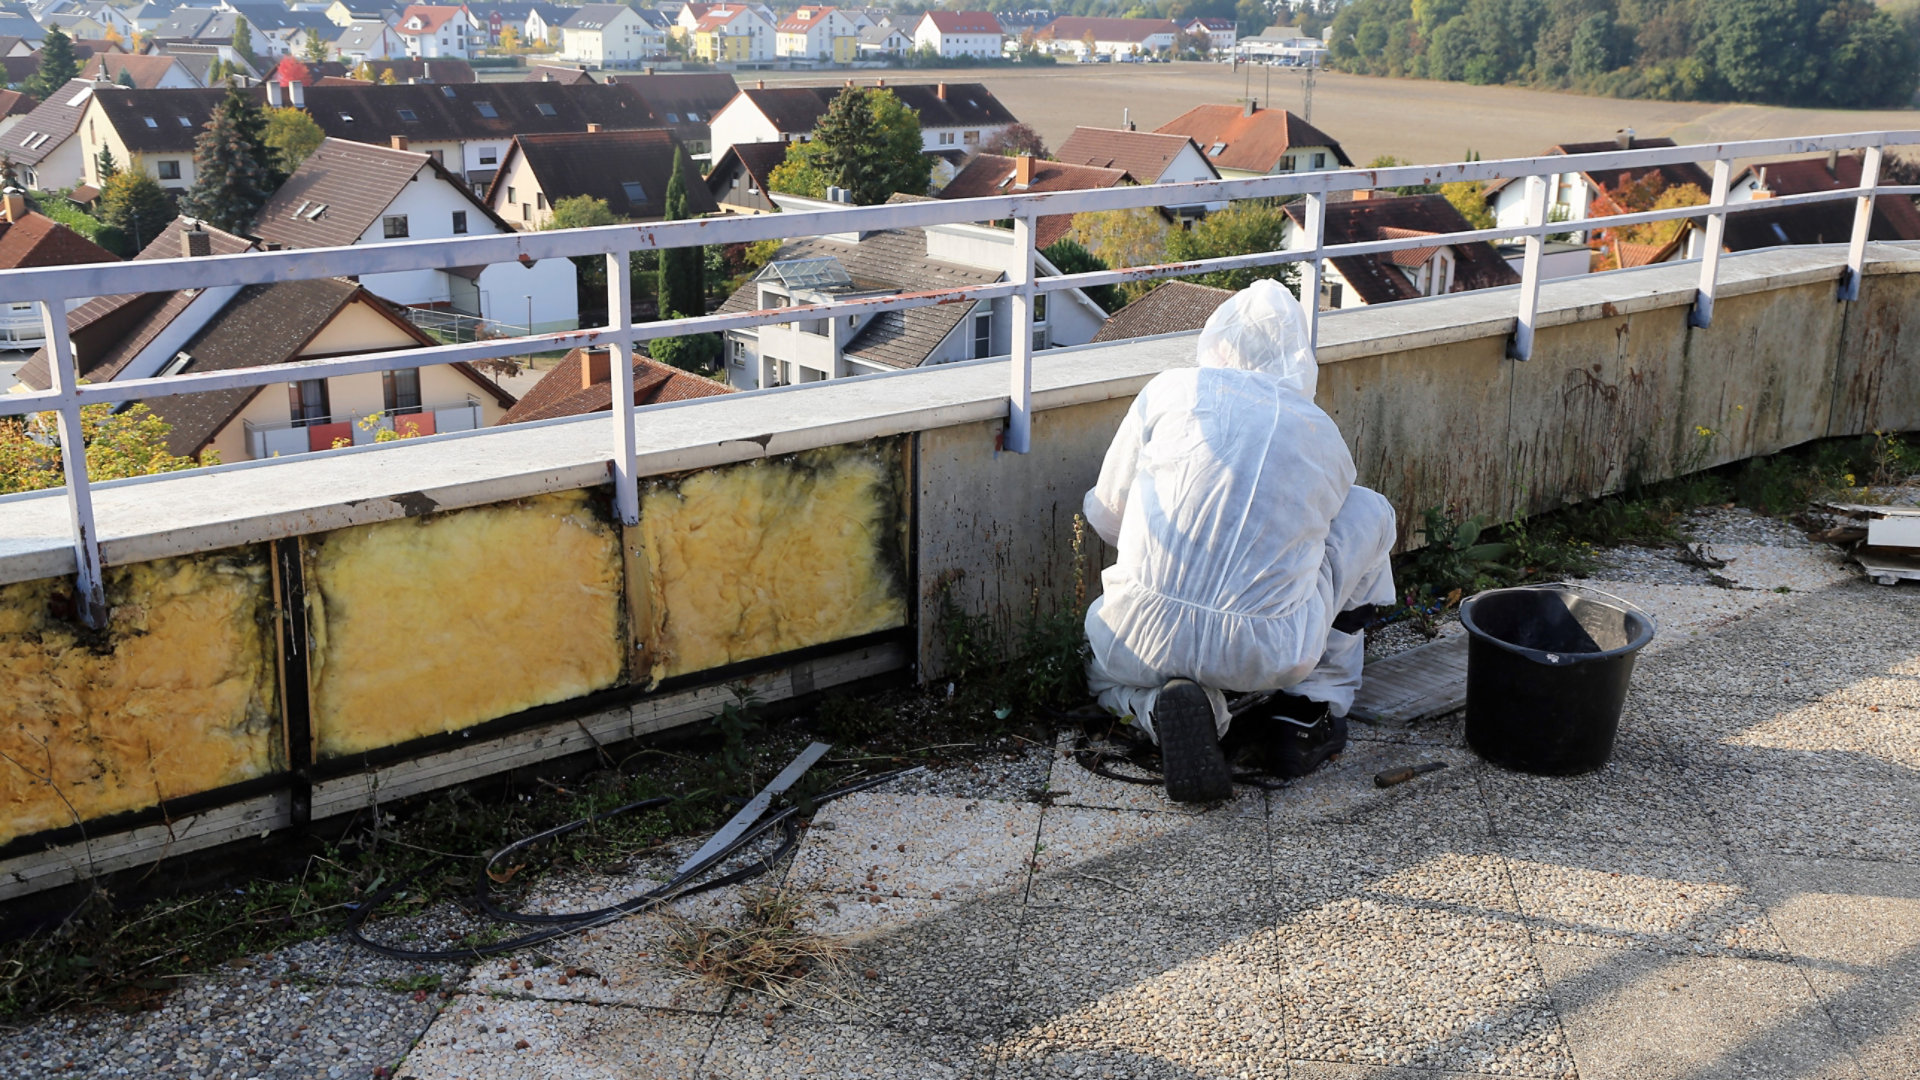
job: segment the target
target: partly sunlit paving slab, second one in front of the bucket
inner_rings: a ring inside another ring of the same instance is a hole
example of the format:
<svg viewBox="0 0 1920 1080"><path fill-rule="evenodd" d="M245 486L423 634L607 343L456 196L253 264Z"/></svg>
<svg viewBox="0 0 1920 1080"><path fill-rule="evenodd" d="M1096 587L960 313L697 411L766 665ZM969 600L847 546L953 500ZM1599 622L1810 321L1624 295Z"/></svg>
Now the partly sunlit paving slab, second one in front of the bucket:
<svg viewBox="0 0 1920 1080"><path fill-rule="evenodd" d="M1503 840L1534 942L1786 959L1745 872L1697 847Z"/></svg>

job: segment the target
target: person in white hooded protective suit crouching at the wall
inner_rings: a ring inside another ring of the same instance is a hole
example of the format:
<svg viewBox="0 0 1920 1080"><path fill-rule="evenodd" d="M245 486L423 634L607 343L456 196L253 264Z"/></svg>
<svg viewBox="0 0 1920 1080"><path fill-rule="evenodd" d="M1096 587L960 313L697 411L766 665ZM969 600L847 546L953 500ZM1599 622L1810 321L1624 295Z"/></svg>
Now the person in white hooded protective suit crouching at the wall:
<svg viewBox="0 0 1920 1080"><path fill-rule="evenodd" d="M1300 302L1256 281L1208 319L1198 361L1140 390L1085 502L1119 550L1087 609L1089 684L1160 744L1181 801L1231 790L1227 692L1283 692L1275 715L1321 732L1308 769L1338 753L1365 613L1394 600L1394 507L1354 484L1313 404Z"/></svg>

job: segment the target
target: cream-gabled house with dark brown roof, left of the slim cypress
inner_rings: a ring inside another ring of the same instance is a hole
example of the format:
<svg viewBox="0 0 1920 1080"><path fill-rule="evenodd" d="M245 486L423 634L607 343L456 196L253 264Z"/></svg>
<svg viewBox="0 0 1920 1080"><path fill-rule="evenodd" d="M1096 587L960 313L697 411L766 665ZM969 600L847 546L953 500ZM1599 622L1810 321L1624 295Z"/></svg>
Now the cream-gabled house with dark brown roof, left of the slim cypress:
<svg viewBox="0 0 1920 1080"><path fill-rule="evenodd" d="M593 196L622 221L666 217L666 184L674 175L680 142L664 129L584 131L568 135L520 135L507 148L488 206L520 231L545 229L553 204ZM687 215L705 217L718 208L699 169L682 160Z"/></svg>

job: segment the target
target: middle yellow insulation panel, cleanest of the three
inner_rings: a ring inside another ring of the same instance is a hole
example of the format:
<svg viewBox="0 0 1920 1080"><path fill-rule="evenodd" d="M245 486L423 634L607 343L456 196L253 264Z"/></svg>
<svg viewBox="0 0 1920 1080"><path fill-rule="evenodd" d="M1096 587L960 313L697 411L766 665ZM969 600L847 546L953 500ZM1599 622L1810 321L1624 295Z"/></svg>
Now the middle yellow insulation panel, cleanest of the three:
<svg viewBox="0 0 1920 1080"><path fill-rule="evenodd" d="M614 686L626 661L620 567L618 528L589 492L309 540L321 757Z"/></svg>

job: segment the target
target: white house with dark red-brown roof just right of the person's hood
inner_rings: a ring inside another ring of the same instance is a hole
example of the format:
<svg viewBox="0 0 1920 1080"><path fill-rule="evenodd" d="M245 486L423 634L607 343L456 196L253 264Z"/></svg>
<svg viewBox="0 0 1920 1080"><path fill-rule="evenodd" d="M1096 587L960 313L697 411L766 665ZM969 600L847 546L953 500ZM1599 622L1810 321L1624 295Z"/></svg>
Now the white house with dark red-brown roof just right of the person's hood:
<svg viewBox="0 0 1920 1080"><path fill-rule="evenodd" d="M1411 240L1473 229L1459 209L1438 194L1371 196L1373 192L1356 192L1352 202L1327 204L1323 225L1327 244ZM1288 204L1286 217L1286 248L1311 248L1306 204ZM1379 256L1342 256L1327 263L1321 309L1331 311L1521 282L1521 275L1486 240L1467 244L1436 240Z"/></svg>

